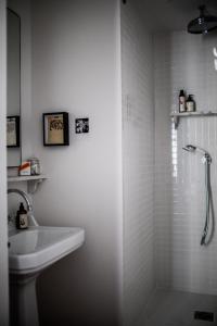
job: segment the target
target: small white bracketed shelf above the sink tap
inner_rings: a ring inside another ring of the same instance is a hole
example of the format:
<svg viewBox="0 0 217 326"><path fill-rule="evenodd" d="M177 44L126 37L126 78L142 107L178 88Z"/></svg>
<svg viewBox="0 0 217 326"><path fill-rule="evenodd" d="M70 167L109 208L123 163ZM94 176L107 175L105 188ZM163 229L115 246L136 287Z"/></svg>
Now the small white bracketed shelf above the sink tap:
<svg viewBox="0 0 217 326"><path fill-rule="evenodd" d="M28 192L34 193L38 189L38 186L47 178L48 177L46 175L9 176L8 183L27 181Z"/></svg>

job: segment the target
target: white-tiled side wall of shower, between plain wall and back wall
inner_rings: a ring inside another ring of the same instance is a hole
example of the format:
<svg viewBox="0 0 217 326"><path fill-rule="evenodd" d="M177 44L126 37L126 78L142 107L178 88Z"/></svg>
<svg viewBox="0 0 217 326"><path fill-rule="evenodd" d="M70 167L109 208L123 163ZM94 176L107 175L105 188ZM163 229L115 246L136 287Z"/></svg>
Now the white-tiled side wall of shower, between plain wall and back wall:
<svg viewBox="0 0 217 326"><path fill-rule="evenodd" d="M154 288L153 42L132 3L122 11L124 319L133 326Z"/></svg>

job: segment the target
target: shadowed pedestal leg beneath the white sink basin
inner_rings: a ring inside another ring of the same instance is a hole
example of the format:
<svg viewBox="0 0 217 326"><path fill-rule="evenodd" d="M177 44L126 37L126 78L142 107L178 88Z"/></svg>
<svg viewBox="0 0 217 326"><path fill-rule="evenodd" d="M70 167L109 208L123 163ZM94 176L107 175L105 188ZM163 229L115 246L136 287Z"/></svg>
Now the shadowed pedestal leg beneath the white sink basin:
<svg viewBox="0 0 217 326"><path fill-rule="evenodd" d="M36 276L10 275L10 326L39 326Z"/></svg>

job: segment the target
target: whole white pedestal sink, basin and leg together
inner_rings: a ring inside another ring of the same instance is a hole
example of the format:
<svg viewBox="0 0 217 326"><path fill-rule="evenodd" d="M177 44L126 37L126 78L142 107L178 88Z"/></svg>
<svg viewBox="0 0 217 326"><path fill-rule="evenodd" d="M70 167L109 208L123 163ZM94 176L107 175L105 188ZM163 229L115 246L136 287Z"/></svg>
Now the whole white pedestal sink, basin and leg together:
<svg viewBox="0 0 217 326"><path fill-rule="evenodd" d="M85 231L77 227L33 226L9 234L11 326L38 326L36 278L78 249Z"/></svg>

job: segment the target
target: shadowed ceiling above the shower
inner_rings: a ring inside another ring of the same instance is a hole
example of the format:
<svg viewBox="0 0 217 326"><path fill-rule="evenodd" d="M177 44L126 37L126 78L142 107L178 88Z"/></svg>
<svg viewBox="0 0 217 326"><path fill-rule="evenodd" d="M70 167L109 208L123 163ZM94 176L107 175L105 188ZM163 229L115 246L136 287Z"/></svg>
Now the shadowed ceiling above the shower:
<svg viewBox="0 0 217 326"><path fill-rule="evenodd" d="M205 4L217 16L217 0L128 0L135 1L148 27L154 32L186 29L199 16L199 5Z"/></svg>

